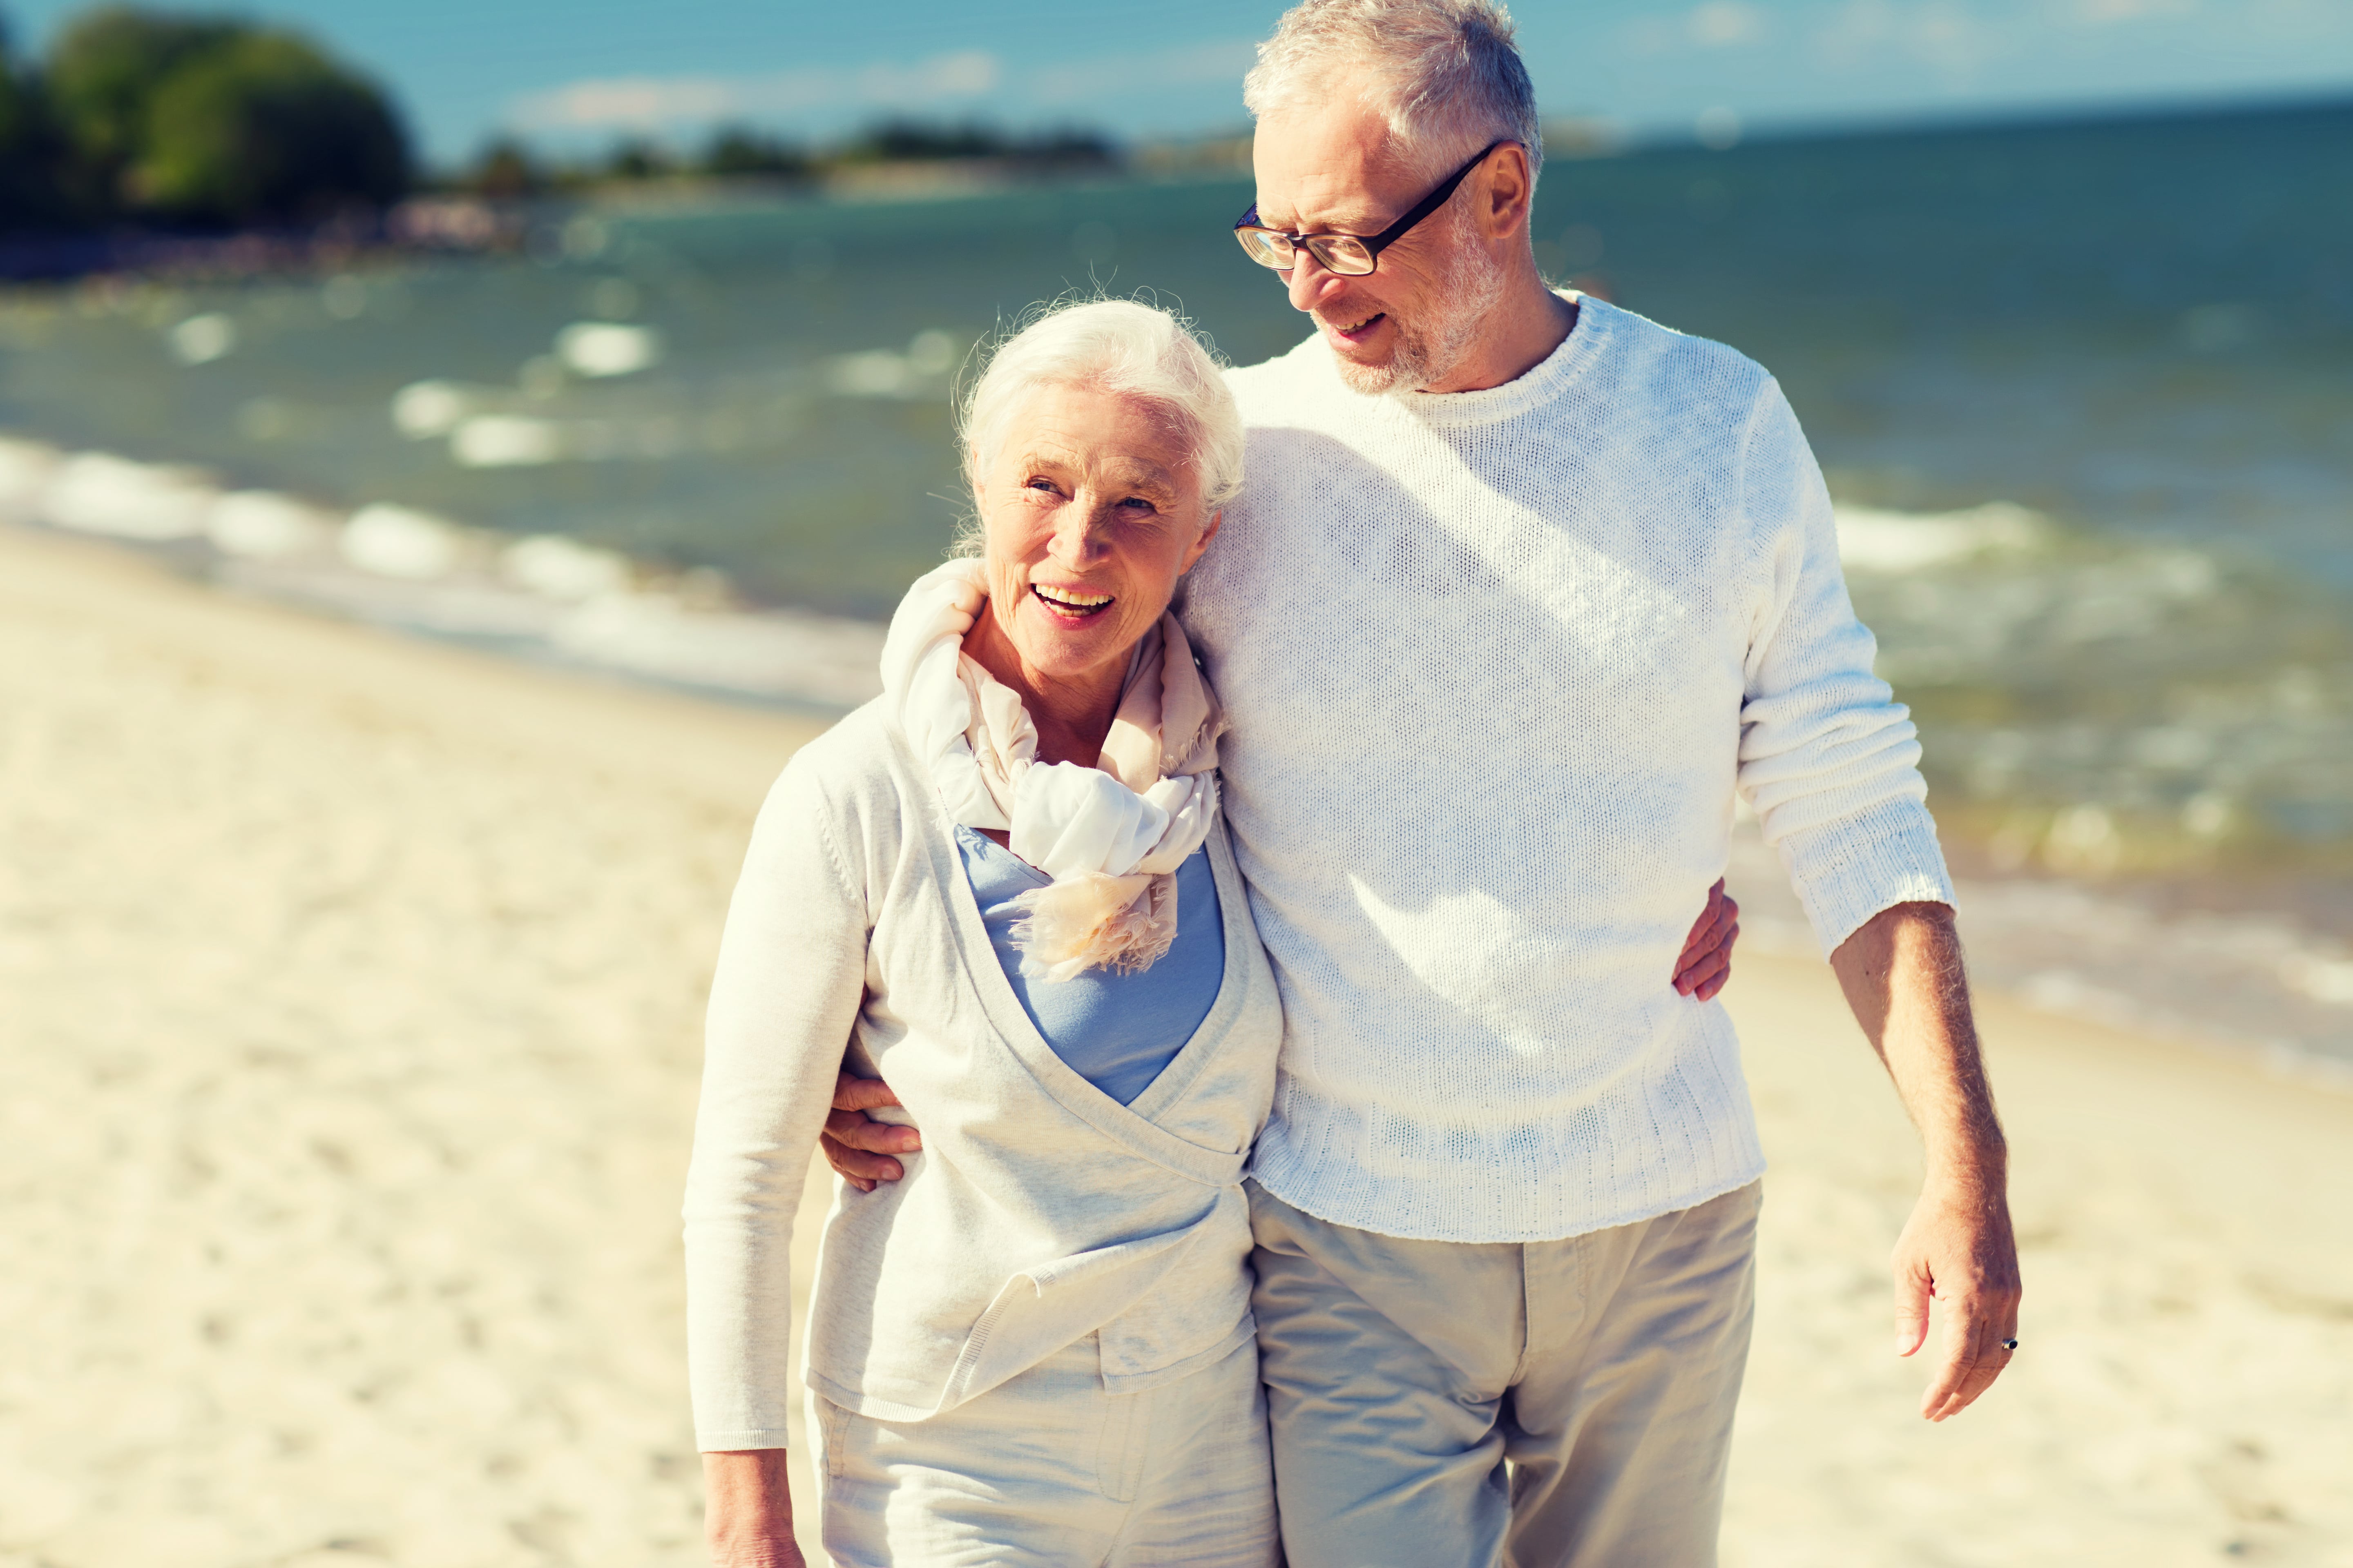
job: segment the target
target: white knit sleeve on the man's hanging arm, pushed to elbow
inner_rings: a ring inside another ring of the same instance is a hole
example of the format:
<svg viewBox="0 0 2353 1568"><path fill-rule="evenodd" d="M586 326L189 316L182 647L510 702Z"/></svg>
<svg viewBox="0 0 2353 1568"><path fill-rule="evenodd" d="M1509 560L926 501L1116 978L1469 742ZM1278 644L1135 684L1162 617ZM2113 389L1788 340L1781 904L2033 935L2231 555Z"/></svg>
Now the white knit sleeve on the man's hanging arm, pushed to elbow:
<svg viewBox="0 0 2353 1568"><path fill-rule="evenodd" d="M1951 903L1920 738L1871 656L1838 569L1838 527L1788 397L1758 393L1741 508L1767 550L1748 642L1739 788L1781 853L1821 952L1897 903Z"/></svg>

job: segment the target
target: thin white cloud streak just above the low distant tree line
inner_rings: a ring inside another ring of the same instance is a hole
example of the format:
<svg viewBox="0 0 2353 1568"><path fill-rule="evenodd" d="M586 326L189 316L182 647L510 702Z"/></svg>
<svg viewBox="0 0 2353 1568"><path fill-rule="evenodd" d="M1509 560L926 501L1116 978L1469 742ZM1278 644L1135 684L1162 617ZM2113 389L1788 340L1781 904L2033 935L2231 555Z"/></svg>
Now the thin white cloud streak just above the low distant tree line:
<svg viewBox="0 0 2353 1568"><path fill-rule="evenodd" d="M518 99L518 129L661 129L739 115L795 115L812 108L932 108L979 99L1005 71L986 49L934 54L859 71L774 71L765 75L628 75L569 82Z"/></svg>

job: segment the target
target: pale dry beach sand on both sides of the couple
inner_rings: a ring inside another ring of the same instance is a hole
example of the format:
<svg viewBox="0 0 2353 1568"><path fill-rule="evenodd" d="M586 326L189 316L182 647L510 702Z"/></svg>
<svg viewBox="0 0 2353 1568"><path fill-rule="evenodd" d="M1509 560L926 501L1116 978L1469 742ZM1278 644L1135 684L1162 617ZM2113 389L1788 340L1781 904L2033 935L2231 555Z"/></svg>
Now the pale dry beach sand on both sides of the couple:
<svg viewBox="0 0 2353 1568"><path fill-rule="evenodd" d="M0 534L0 1566L699 1561L699 1001L805 733ZM1727 1563L2353 1563L2353 1100L1991 1001L2026 1349L1927 1427L1913 1138L1819 964L1729 1001Z"/></svg>

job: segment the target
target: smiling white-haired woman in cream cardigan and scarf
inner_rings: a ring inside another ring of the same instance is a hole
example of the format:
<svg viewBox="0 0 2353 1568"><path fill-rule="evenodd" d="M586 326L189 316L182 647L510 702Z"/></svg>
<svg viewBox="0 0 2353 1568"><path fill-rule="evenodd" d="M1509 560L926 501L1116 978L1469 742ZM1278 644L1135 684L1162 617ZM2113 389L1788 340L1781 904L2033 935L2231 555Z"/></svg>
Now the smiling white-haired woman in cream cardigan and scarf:
<svg viewBox="0 0 2353 1568"><path fill-rule="evenodd" d="M913 585L885 693L776 780L720 947L687 1194L713 1554L800 1563L793 1211L847 1060L922 1131L826 1220L826 1552L1273 1563L1240 1182L1282 1016L1167 611L1240 421L1179 322L1113 301L1002 343L962 437L979 559Z"/></svg>

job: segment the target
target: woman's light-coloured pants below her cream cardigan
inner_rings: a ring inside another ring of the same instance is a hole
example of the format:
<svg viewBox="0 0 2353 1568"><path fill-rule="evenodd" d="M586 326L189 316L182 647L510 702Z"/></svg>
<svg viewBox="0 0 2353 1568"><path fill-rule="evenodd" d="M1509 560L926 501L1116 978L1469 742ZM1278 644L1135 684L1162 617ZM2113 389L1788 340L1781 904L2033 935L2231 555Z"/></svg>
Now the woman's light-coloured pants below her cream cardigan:
<svg viewBox="0 0 2353 1568"><path fill-rule="evenodd" d="M809 1394L838 1568L1271 1568L1275 1481L1257 1345L1106 1394L1094 1335L932 1420Z"/></svg>

